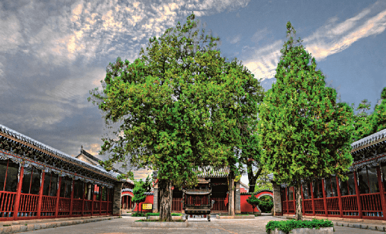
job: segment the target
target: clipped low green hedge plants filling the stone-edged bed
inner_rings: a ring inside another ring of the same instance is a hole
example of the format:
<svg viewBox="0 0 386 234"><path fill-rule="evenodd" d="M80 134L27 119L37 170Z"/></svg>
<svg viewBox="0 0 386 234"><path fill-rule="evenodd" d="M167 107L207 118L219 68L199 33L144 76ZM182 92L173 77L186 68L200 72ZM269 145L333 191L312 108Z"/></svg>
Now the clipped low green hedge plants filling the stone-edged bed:
<svg viewBox="0 0 386 234"><path fill-rule="evenodd" d="M312 219L312 221L296 221L296 220L284 220L284 221L269 221L265 225L265 231L269 234L270 231L275 229L283 231L284 233L290 233L291 230L296 228L328 228L333 227L332 221L327 219Z"/></svg>

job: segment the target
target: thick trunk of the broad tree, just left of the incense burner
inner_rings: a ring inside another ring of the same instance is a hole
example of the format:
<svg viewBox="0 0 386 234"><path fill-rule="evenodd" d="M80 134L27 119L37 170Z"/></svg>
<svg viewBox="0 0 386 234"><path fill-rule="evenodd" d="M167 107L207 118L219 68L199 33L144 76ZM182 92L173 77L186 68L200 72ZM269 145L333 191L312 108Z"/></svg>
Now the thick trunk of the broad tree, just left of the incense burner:
<svg viewBox="0 0 386 234"><path fill-rule="evenodd" d="M171 221L171 181L158 180L160 191L160 219Z"/></svg>

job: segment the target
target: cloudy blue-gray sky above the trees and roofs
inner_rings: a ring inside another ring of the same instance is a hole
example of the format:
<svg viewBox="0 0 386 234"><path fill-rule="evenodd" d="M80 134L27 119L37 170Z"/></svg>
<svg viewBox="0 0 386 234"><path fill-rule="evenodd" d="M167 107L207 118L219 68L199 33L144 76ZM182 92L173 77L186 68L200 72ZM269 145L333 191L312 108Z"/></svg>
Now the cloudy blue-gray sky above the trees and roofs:
<svg viewBox="0 0 386 234"><path fill-rule="evenodd" d="M87 101L106 67L130 62L192 12L267 91L286 22L316 58L341 102L373 107L386 86L386 1L0 1L0 124L68 155L98 155L106 131ZM135 173L146 177L148 171ZM245 177L243 182L247 183Z"/></svg>

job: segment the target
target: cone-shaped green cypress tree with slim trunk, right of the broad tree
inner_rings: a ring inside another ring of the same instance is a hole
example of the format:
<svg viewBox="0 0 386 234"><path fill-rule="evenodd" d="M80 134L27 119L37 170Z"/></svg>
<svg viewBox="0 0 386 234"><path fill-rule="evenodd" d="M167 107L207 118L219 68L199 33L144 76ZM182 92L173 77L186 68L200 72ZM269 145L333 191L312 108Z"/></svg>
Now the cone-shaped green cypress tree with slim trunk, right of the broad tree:
<svg viewBox="0 0 386 234"><path fill-rule="evenodd" d="M287 23L287 38L276 69L276 84L259 106L261 162L276 182L293 185L296 219L302 219L302 182L343 173L353 162L350 140L353 110L337 103L337 92L325 86L295 29Z"/></svg>

